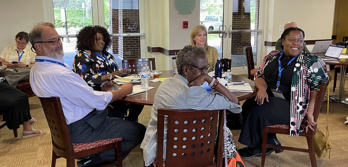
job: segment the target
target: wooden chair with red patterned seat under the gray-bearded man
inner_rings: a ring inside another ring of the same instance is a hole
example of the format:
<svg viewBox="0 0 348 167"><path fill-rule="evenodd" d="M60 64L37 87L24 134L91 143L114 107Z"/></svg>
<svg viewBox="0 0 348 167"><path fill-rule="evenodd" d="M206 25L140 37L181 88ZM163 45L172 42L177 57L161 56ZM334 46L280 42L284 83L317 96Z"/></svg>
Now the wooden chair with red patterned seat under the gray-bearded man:
<svg viewBox="0 0 348 167"><path fill-rule="evenodd" d="M121 140L122 137L104 139L89 143L72 143L68 125L65 121L63 108L58 97L41 98L41 105L45 113L52 137L52 167L56 166L56 159L67 159L67 167L75 167L75 159L115 149L117 162L104 167L117 165L122 167Z"/></svg>

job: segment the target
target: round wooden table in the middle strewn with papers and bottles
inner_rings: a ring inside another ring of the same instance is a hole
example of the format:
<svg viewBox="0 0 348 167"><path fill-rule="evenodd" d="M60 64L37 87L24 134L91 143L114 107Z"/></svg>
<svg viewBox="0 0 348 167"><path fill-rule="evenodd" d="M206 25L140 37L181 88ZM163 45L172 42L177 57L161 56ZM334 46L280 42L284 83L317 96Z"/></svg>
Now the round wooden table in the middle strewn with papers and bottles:
<svg viewBox="0 0 348 167"><path fill-rule="evenodd" d="M162 73L160 73L160 78L165 78L165 77L173 77L173 70L162 70ZM150 80L152 80L151 78ZM232 92L239 101L242 100L247 100L249 98L252 98L256 95L257 93L257 88L255 87L254 81L244 78L238 75L232 75L233 80L242 80L245 83L249 83L250 86L253 89L253 93L247 93L247 92ZM146 92L135 94L129 97L125 97L123 99L120 99L119 101L122 102L127 102L127 103L132 103L132 104L139 104L139 105L149 105L152 106L154 104L154 99L155 99L155 93L160 86L162 82L150 82L149 86L150 87L155 87L154 89L147 90ZM133 85L140 85L140 83L133 83ZM119 88L120 85L118 85L114 81L108 81L102 86L102 91L108 91L108 90L116 90Z"/></svg>

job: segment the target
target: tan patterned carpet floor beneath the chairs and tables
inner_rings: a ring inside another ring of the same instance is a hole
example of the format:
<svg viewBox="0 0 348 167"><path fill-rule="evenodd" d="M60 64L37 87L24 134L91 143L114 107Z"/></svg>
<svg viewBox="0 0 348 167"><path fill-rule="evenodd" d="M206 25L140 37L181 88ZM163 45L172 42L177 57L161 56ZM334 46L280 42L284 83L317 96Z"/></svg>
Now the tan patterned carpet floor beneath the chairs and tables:
<svg viewBox="0 0 348 167"><path fill-rule="evenodd" d="M329 72L333 76L333 71ZM339 80L340 77L338 77ZM346 95L348 88L346 78ZM330 94L332 93L333 82L330 83ZM337 91L336 91L337 92ZM34 128L45 130L46 135L21 138L22 126L18 129L18 137L14 138L13 131L6 127L0 129L0 167L50 167L51 166L51 136L46 122L46 118L41 108L39 99L35 97L29 98L31 115L37 119ZM331 151L331 159L328 155L325 158L317 158L318 167L347 167L348 166L348 126L343 122L348 116L347 105L333 103L329 107L329 130L330 140L333 144ZM322 111L318 119L318 127L325 133L326 126L326 104L323 104ZM146 106L139 116L139 122L147 125L150 120L151 107ZM0 122L1 123L1 122ZM238 141L240 130L232 130L235 140ZM278 135L282 145L300 145L307 148L304 137L289 137L287 135ZM236 143L237 148L243 148L244 145ZM143 167L143 153L139 148L135 148L123 161L124 167ZM247 167L260 167L261 157L255 157L244 160ZM65 167L66 160L61 158L57 160L56 167ZM307 153L299 153L292 151L284 151L280 154L270 154L266 157L266 167L310 167L309 156Z"/></svg>

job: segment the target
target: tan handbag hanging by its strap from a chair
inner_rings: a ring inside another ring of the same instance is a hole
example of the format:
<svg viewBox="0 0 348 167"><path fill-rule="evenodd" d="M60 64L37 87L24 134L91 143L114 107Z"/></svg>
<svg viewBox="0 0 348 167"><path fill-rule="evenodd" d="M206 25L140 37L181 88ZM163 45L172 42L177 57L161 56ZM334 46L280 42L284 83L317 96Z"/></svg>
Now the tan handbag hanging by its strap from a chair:
<svg viewBox="0 0 348 167"><path fill-rule="evenodd" d="M330 84L328 85L328 87L330 88ZM328 91L328 97L330 97L329 92L330 91ZM329 98L328 98L328 108L327 108L327 118L326 118L326 137L319 128L316 128L315 134L314 134L314 151L319 158L323 158L328 151L329 151L329 158L331 158L331 154L330 154L331 142L329 141L328 121L329 121Z"/></svg>

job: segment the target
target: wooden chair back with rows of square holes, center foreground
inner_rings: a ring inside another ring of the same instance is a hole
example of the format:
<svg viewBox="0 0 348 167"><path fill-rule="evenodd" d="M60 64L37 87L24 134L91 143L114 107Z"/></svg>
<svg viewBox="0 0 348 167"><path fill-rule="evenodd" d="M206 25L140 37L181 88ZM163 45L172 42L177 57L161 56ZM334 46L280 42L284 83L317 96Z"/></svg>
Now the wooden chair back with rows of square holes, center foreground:
<svg viewBox="0 0 348 167"><path fill-rule="evenodd" d="M220 167L224 124L224 121L220 121L224 120L221 113L218 110L159 108L157 164L162 166L163 163L165 115L168 115L166 167ZM217 148L214 145L216 134Z"/></svg>

